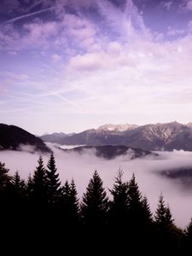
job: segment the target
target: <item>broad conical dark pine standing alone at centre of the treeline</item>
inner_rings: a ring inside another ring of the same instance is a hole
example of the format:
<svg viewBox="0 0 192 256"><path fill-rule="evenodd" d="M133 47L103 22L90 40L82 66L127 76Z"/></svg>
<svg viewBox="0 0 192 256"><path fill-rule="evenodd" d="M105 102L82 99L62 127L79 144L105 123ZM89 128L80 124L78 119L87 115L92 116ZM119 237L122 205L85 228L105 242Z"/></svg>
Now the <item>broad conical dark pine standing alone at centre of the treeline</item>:
<svg viewBox="0 0 192 256"><path fill-rule="evenodd" d="M81 214L84 224L98 228L106 222L108 212L108 197L102 187L102 179L98 172L93 177L83 195Z"/></svg>

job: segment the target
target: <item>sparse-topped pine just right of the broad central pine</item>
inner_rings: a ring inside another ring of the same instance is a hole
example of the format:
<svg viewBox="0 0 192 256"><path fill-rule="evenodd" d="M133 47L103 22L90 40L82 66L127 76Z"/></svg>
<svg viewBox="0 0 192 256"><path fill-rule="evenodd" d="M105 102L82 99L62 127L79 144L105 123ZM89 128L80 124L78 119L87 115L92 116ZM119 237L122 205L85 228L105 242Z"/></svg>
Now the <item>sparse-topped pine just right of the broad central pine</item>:
<svg viewBox="0 0 192 256"><path fill-rule="evenodd" d="M113 195L113 201L110 202L110 223L115 226L125 226L128 222L128 183L122 181L123 171L119 168L117 177L115 177L113 189L109 189Z"/></svg>

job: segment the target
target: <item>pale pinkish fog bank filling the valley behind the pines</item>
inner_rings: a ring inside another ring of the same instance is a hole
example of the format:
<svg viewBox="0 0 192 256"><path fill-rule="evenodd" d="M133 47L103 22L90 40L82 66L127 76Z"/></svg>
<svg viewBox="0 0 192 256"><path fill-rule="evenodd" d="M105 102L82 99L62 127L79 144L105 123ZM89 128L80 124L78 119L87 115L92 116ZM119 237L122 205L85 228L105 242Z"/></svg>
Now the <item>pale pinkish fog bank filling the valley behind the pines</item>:
<svg viewBox="0 0 192 256"><path fill-rule="evenodd" d="M49 147L54 151L62 183L66 179L70 181L74 178L79 199L81 199L95 170L102 177L103 185L108 192L108 189L113 187L114 177L120 167L124 172L125 181L131 178L133 172L135 173L139 189L143 195L147 195L152 212L155 212L162 192L166 203L171 207L172 217L176 224L182 228L189 224L189 220L192 218L192 189L186 189L181 184L160 176L159 172L192 166L192 152L175 150L173 152L158 152L158 157L148 156L130 160L129 156L120 156L114 160L105 160L96 157L94 151L91 150L84 151L84 154L78 154L66 153L50 143ZM39 153L32 154L29 148L23 149L24 151L0 151L0 161L9 168L10 174L19 171L20 176L26 179L29 172L33 173L38 165ZM43 158L46 166L49 154L43 154Z"/></svg>

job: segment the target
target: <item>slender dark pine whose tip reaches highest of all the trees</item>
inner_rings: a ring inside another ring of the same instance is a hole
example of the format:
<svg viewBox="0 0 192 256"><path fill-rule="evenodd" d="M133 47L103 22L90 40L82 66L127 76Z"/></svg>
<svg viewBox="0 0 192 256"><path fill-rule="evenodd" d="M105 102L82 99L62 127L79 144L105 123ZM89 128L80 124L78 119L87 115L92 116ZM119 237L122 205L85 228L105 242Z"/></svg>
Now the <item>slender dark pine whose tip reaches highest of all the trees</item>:
<svg viewBox="0 0 192 256"><path fill-rule="evenodd" d="M56 173L55 157L53 152L50 154L49 162L47 165L47 185L48 185L48 201L49 207L58 205L61 197L61 182L59 179L59 173Z"/></svg>

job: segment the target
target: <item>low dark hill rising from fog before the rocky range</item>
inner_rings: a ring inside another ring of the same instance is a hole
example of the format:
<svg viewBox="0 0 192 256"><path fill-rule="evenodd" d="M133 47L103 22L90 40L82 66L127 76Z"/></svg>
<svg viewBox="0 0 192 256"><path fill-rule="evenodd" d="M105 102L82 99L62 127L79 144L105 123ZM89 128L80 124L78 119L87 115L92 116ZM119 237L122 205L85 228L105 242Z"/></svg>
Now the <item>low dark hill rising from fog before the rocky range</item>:
<svg viewBox="0 0 192 256"><path fill-rule="evenodd" d="M120 155L127 156L131 160L136 158L141 158L147 155L158 155L140 148L130 148L126 146L111 146L111 145L98 146L98 147L84 146L84 147L62 149L62 150L64 150L65 152L76 152L79 154L84 154L84 153L86 154L86 153L89 153L90 150L92 150L92 152L95 153L97 157L103 157L108 160L112 160Z"/></svg>

